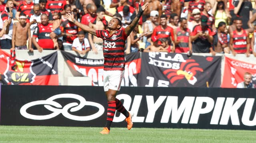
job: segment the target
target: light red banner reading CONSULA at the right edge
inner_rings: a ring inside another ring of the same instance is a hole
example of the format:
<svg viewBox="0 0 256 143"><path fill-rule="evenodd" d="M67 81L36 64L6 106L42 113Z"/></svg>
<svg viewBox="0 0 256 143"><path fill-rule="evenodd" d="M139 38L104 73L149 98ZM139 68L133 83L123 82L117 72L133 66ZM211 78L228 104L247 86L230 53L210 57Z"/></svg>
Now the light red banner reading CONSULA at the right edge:
<svg viewBox="0 0 256 143"><path fill-rule="evenodd" d="M256 84L256 64L225 57L225 68L221 87L236 88L238 83L244 81L245 72L252 74L252 82Z"/></svg>

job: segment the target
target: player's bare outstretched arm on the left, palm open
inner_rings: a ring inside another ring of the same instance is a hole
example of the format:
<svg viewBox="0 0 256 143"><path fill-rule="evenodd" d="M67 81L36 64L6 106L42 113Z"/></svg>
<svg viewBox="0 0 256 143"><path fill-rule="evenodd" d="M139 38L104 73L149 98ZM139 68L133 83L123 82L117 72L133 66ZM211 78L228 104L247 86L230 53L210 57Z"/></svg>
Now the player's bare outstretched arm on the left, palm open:
<svg viewBox="0 0 256 143"><path fill-rule="evenodd" d="M96 30L89 27L88 25L84 25L84 24L81 24L80 22L78 22L75 18L74 18L74 14L72 12L72 14L70 13L67 13L66 14L66 18L70 21L70 22L73 22L75 25L77 25L78 27L80 27L81 29L83 29L84 31L87 31L89 33L91 33L92 35L95 35L96 36Z"/></svg>

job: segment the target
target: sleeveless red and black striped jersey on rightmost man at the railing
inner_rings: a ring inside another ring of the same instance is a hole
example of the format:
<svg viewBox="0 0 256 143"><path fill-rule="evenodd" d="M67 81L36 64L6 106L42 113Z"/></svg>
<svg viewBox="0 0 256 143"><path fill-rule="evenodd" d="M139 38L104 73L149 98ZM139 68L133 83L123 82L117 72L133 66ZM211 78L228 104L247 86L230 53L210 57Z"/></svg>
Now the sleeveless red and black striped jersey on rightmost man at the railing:
<svg viewBox="0 0 256 143"><path fill-rule="evenodd" d="M241 35L238 35L236 30L233 31L233 49L236 53L246 53L247 33L244 29L242 31L243 33Z"/></svg>

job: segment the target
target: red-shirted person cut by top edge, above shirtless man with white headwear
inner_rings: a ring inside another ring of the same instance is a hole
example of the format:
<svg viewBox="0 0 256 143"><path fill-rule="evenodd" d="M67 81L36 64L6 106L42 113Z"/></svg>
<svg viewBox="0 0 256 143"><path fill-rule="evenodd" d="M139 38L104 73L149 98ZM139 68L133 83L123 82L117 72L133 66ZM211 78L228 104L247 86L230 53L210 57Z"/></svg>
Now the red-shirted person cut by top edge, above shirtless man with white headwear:
<svg viewBox="0 0 256 143"><path fill-rule="evenodd" d="M17 9L17 13L15 15L15 18L19 20L20 14L26 14L28 17L30 14L30 11L34 8L34 3L32 0L24 0L23 2L20 3Z"/></svg>

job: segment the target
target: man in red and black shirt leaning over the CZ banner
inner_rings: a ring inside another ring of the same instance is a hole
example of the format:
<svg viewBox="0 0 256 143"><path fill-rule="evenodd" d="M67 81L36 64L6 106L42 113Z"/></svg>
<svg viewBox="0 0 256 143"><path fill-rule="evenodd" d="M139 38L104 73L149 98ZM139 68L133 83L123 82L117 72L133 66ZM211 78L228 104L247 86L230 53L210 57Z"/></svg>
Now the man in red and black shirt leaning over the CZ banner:
<svg viewBox="0 0 256 143"><path fill-rule="evenodd" d="M52 32L52 24L48 23L48 16L46 14L41 15L41 24L38 24L34 30L32 43L42 52L43 49L53 50L54 43L50 38L50 33ZM38 38L38 42L36 42Z"/></svg>

